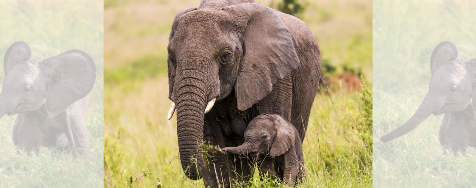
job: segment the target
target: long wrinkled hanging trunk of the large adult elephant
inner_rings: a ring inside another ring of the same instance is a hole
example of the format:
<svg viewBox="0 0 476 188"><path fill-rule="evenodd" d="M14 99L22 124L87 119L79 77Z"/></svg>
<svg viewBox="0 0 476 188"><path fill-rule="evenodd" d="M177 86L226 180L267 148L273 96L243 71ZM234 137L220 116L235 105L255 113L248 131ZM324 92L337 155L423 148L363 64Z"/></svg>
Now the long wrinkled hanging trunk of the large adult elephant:
<svg viewBox="0 0 476 188"><path fill-rule="evenodd" d="M205 119L206 96L193 81L184 79L186 86L179 87L177 99L178 151L182 169L190 179L200 179L199 173L205 170L202 154L203 123Z"/></svg>

